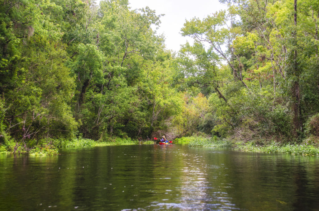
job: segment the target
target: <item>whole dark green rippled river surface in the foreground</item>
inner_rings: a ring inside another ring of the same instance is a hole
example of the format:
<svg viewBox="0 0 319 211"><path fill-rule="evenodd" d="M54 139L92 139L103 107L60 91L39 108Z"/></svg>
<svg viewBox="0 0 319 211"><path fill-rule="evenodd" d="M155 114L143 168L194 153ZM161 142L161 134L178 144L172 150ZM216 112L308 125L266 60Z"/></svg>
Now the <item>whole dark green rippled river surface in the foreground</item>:
<svg viewBox="0 0 319 211"><path fill-rule="evenodd" d="M0 210L318 210L319 158L130 145L0 155Z"/></svg>

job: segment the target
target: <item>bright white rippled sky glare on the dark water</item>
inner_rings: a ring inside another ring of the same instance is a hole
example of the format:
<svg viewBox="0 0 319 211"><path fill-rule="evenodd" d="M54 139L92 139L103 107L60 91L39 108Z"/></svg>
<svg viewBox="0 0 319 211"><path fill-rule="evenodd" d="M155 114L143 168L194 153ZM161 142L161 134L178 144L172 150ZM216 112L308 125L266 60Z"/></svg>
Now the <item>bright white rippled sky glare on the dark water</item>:
<svg viewBox="0 0 319 211"><path fill-rule="evenodd" d="M181 197L179 204L171 204L172 207L188 209L233 209L231 198L223 188L214 186L214 180L218 176L212 176L209 170L220 172L221 166L210 165L203 156L198 154L181 153L183 157L182 184L180 186ZM207 173L208 172L208 173Z"/></svg>

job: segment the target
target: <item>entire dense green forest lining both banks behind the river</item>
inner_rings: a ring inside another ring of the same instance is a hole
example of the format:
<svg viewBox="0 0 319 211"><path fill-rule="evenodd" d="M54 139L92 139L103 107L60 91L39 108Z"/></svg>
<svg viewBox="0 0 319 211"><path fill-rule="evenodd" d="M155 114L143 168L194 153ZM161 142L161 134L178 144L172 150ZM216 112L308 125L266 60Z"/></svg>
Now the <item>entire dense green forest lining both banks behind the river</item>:
<svg viewBox="0 0 319 211"><path fill-rule="evenodd" d="M208 135L319 143L319 1L220 0L166 48L127 0L0 1L0 147ZM61 147L61 146L60 146Z"/></svg>

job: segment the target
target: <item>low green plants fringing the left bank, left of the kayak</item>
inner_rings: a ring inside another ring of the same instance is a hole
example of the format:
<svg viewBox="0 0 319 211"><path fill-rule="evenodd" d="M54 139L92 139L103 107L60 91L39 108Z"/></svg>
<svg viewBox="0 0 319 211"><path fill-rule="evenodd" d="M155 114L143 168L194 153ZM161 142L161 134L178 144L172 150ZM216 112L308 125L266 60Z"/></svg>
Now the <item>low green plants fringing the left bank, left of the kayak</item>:
<svg viewBox="0 0 319 211"><path fill-rule="evenodd" d="M33 156L58 155L59 149L76 147L102 147L114 145L134 145L134 144L153 144L153 141L137 141L130 138L113 138L107 142L94 141L86 138L68 139L49 139L47 143L35 145L27 148L26 145L19 146L16 142L10 142L7 146L0 146L0 154L29 154Z"/></svg>

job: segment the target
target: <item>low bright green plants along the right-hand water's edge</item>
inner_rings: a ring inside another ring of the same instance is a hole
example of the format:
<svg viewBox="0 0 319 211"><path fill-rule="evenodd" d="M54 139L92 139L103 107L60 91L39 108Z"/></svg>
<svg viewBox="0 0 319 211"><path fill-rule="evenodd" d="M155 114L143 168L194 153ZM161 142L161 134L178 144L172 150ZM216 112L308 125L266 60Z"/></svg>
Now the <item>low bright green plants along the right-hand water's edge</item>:
<svg viewBox="0 0 319 211"><path fill-rule="evenodd" d="M189 142L191 147L232 147L234 150L260 153L285 153L292 155L319 156L319 149L313 145L291 144L271 142L269 144L258 145L254 142L233 142L227 139L218 139L217 137L184 137L179 141Z"/></svg>

